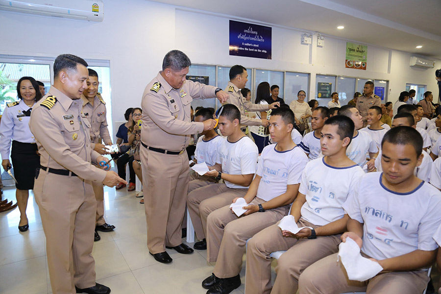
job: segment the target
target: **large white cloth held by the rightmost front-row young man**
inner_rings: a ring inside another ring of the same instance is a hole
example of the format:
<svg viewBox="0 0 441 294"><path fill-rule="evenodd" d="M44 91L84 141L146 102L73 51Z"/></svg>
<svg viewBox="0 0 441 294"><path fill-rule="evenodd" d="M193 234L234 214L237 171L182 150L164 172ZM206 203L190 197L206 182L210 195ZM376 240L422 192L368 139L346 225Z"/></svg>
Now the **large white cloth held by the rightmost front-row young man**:
<svg viewBox="0 0 441 294"><path fill-rule="evenodd" d="M364 282L383 270L378 262L361 256L360 247L349 237L339 245L339 258L349 280Z"/></svg>

